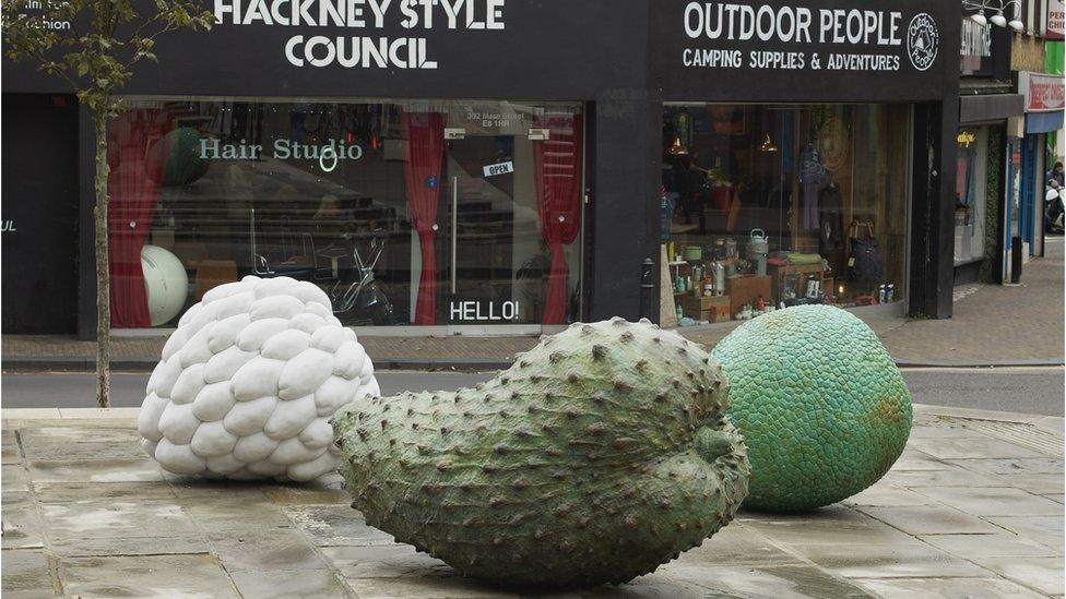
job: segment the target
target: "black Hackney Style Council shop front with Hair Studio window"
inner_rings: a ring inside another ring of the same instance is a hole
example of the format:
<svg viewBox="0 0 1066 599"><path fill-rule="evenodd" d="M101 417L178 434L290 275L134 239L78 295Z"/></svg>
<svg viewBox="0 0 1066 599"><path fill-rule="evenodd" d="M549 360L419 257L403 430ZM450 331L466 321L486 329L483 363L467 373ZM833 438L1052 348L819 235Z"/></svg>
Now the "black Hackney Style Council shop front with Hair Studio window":
<svg viewBox="0 0 1066 599"><path fill-rule="evenodd" d="M249 275L311 281L342 323L376 334L638 316L644 242L656 242L643 233L654 212L628 206L653 189L633 148L653 119L645 2L208 4L212 31L159 38L158 65L108 127L115 330L170 330ZM5 106L64 91L5 67ZM76 327L90 336L84 112L78 127ZM35 232L19 238L31 253ZM5 303L28 308L7 283Z"/></svg>

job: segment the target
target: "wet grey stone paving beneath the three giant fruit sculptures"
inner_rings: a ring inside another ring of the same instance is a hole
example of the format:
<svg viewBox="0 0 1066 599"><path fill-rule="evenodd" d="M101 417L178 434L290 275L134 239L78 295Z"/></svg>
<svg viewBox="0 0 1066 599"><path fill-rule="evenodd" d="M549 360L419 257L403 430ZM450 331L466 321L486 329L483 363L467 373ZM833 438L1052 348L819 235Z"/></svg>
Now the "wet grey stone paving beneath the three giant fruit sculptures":
<svg viewBox="0 0 1066 599"><path fill-rule="evenodd" d="M368 527L336 477L164 474L137 409L3 410L2 590L17 597L517 597ZM742 512L618 587L555 597L1063 596L1063 419L915 407L892 470L797 516Z"/></svg>

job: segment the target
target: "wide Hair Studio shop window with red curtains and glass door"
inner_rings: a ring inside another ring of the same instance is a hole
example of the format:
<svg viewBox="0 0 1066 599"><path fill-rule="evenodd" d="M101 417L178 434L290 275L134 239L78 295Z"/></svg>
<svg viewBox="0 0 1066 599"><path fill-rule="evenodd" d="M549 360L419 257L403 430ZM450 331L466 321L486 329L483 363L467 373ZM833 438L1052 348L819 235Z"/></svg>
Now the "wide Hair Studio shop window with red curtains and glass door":
<svg viewBox="0 0 1066 599"><path fill-rule="evenodd" d="M247 275L351 326L578 318L581 106L129 99L108 128L111 319Z"/></svg>

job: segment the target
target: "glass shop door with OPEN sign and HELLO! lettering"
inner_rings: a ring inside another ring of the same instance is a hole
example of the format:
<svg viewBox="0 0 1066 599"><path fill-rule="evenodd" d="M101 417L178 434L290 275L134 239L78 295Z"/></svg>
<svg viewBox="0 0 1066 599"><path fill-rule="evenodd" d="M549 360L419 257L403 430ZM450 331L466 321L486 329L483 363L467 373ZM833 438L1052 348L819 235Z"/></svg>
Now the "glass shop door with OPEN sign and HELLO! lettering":
<svg viewBox="0 0 1066 599"><path fill-rule="evenodd" d="M579 313L581 117L465 105L443 131L448 324L561 324Z"/></svg>

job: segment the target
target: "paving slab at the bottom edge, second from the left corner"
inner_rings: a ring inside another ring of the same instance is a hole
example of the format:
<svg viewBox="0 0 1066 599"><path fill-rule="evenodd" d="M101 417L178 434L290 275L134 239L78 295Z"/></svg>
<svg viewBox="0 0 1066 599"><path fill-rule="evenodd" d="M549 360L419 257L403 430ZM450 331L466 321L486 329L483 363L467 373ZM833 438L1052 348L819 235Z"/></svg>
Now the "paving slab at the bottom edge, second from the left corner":
<svg viewBox="0 0 1066 599"><path fill-rule="evenodd" d="M69 558L59 578L72 597L239 597L210 554Z"/></svg>

